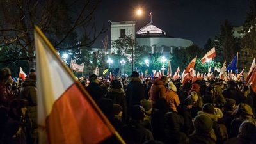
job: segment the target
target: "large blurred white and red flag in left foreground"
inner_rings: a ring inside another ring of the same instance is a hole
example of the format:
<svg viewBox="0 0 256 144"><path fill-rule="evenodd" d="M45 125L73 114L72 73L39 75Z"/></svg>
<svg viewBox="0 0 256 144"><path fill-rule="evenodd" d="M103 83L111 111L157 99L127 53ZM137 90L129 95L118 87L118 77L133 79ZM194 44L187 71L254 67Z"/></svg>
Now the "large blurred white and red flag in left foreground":
<svg viewBox="0 0 256 144"><path fill-rule="evenodd" d="M106 116L61 62L37 26L34 36L39 143L101 143L114 134L118 137ZM118 140L122 141L122 138Z"/></svg>

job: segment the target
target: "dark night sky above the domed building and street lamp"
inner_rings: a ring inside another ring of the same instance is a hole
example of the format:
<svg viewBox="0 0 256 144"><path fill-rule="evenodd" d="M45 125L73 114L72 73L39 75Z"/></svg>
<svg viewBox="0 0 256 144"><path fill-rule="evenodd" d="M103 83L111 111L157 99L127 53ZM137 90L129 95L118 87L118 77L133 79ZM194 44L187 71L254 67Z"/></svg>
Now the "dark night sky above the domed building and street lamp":
<svg viewBox="0 0 256 144"><path fill-rule="evenodd" d="M246 18L249 0L103 0L96 12L97 26L108 20L128 21L136 19L137 31L150 22L166 35L186 38L203 47L208 38L213 39L220 25L228 19L233 26L240 26ZM135 17L136 8L143 9L142 17ZM93 47L102 47L101 36Z"/></svg>

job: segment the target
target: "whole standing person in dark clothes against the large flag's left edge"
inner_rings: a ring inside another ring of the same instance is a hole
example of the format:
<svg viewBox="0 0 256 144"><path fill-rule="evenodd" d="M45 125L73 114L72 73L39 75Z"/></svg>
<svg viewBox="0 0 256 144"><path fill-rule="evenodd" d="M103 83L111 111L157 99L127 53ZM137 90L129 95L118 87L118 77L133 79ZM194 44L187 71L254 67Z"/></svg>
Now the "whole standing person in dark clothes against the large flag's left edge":
<svg viewBox="0 0 256 144"><path fill-rule="evenodd" d="M32 141L28 143L34 143L38 141L37 132L37 88L36 88L36 72L31 69L28 77L21 84L20 99L28 100L28 116L31 118L31 138Z"/></svg>

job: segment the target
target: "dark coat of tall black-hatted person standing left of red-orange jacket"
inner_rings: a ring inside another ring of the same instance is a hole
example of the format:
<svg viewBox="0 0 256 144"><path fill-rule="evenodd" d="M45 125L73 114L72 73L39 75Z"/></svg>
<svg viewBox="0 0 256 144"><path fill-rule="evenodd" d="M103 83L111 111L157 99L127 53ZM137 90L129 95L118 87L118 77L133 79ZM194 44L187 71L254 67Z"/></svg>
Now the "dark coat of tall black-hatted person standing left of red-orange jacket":
<svg viewBox="0 0 256 144"><path fill-rule="evenodd" d="M125 91L127 108L140 105L140 101L145 99L146 93L141 80L138 77L131 77L131 81Z"/></svg>

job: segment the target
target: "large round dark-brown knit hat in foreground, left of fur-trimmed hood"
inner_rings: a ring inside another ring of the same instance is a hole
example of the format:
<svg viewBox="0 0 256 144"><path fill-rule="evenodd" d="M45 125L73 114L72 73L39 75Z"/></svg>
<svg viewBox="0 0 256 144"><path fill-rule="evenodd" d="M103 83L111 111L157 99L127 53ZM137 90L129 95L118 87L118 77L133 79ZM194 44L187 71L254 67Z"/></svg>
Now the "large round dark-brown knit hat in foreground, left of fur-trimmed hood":
<svg viewBox="0 0 256 144"><path fill-rule="evenodd" d="M194 120L195 131L199 133L209 133L212 129L213 122L206 115L197 115Z"/></svg>

